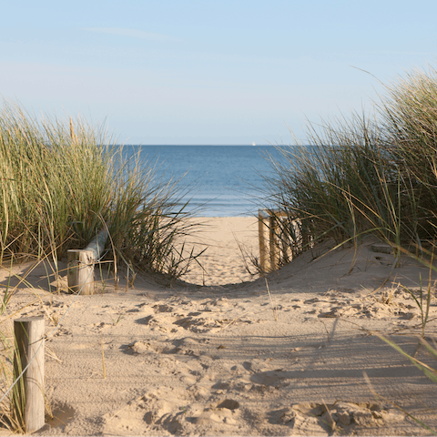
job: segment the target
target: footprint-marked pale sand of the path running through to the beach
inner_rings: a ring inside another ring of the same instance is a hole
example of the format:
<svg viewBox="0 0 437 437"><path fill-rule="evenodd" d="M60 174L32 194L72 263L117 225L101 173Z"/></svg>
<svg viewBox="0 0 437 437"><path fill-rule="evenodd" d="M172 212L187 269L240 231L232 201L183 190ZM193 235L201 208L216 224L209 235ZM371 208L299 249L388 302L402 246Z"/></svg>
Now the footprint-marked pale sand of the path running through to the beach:
<svg viewBox="0 0 437 437"><path fill-rule="evenodd" d="M436 384L377 335L435 367L414 335L420 311L399 286L417 290L420 275L427 285L427 269L407 258L393 269L371 241L358 253L316 247L267 276L269 297L233 239L256 251L256 221L205 221L208 274L193 269L192 283L137 277L127 291L107 281L76 297L63 278L49 285L43 266L27 276L7 312L29 303L13 318L46 318L54 417L38 435L429 435L394 405L437 427ZM429 337L436 317L433 298Z"/></svg>

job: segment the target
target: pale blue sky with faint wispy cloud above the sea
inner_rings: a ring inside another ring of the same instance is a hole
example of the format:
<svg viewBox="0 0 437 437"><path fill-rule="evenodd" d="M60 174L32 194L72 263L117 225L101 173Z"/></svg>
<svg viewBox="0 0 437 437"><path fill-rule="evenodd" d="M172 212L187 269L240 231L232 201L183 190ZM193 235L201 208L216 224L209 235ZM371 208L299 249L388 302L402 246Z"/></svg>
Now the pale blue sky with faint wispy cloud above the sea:
<svg viewBox="0 0 437 437"><path fill-rule="evenodd" d="M435 0L0 5L0 97L125 144L307 144L437 54Z"/></svg>

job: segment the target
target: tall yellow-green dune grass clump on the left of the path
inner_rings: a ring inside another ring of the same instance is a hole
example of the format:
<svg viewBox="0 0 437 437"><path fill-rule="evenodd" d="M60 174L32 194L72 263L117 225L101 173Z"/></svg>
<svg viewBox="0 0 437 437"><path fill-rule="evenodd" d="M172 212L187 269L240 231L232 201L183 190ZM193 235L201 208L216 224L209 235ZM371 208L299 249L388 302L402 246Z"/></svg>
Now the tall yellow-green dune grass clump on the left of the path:
<svg viewBox="0 0 437 437"><path fill-rule="evenodd" d="M108 256L130 269L178 277L196 258L175 249L193 226L176 208L184 188L139 156L127 158L104 127L80 117L37 120L5 103L0 175L0 265L47 254L57 261L104 227Z"/></svg>

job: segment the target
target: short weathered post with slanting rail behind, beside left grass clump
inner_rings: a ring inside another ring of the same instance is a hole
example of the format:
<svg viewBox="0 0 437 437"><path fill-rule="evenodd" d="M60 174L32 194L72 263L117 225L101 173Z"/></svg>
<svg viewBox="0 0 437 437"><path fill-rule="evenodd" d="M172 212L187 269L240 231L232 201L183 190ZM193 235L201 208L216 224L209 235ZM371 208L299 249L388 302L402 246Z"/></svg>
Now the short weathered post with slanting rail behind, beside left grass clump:
<svg viewBox="0 0 437 437"><path fill-rule="evenodd" d="M80 294L94 294L94 264L105 249L107 229L101 230L86 249L70 249L67 252L68 289Z"/></svg>

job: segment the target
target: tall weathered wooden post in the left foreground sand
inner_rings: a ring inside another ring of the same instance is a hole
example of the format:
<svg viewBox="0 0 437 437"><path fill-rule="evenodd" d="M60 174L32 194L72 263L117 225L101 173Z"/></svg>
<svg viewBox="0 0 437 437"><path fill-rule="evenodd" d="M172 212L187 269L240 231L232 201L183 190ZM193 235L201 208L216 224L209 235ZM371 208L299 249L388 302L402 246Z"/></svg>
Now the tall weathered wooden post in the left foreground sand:
<svg viewBox="0 0 437 437"><path fill-rule="evenodd" d="M45 424L44 328L44 317L14 320L15 378L30 362L14 387L15 417L24 426L25 432L35 432Z"/></svg>

